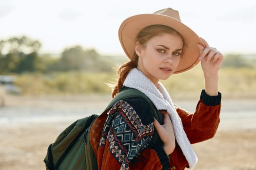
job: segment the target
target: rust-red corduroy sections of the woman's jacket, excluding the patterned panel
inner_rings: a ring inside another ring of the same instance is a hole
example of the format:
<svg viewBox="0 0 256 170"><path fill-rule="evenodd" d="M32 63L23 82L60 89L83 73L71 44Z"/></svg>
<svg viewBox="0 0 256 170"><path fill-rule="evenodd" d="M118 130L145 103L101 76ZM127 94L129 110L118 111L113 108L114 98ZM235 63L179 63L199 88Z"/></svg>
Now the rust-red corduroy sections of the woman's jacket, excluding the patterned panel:
<svg viewBox="0 0 256 170"><path fill-rule="evenodd" d="M184 131L190 140L190 143L197 143L212 138L217 131L219 124L219 113L221 104L220 102L212 105L212 100L216 100L217 97L209 97L202 91L200 100L197 103L197 107L194 114L189 113L177 107L177 113L182 120ZM220 93L218 100L220 101ZM216 103L216 101L214 101ZM209 104L210 103L210 104ZM116 157L113 156L109 147L110 143L106 141L104 147L99 147L100 138L102 136L102 130L104 123L108 115L100 116L93 124L90 131L90 143L94 149L94 153L98 161L98 170L120 170L124 169L118 163ZM166 154L165 154L166 155ZM167 156L166 156L167 157ZM168 167L165 157L159 157L159 153L155 149L146 148L136 156L129 164L130 170L184 170L188 167L187 160L185 159L178 144L173 153L169 156ZM168 160L168 159L167 159ZM128 168L126 168L128 169Z"/></svg>

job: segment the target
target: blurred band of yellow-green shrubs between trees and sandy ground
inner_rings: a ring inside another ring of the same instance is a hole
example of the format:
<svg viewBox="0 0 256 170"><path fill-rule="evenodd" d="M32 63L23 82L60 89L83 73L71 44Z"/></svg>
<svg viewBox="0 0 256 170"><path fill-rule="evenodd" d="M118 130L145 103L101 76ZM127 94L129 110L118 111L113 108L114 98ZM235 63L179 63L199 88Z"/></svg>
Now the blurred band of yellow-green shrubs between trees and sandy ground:
<svg viewBox="0 0 256 170"><path fill-rule="evenodd" d="M16 85L24 95L111 93L106 85L116 82L117 73L85 71L26 73L17 76ZM172 96L198 97L204 88L203 72L198 65L190 71L161 81ZM229 97L256 96L256 68L221 68L219 91Z"/></svg>

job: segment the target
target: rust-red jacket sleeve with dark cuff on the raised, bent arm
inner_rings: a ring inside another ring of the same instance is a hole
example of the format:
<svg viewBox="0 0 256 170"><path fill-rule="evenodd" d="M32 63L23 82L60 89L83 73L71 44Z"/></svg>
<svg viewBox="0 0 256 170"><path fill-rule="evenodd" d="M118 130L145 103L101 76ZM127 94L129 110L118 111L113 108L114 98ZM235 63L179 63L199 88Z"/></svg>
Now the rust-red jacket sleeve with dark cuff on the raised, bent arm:
<svg viewBox="0 0 256 170"><path fill-rule="evenodd" d="M177 107L177 113L191 144L214 137L219 124L220 101L221 93L217 96L208 96L202 90L194 114Z"/></svg>

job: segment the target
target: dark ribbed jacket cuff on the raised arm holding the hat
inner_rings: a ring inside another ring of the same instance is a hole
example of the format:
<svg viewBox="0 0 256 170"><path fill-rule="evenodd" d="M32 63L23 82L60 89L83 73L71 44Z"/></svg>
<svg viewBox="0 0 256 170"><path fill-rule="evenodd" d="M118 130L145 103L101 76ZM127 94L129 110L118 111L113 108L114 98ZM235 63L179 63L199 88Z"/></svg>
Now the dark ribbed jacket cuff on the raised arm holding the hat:
<svg viewBox="0 0 256 170"><path fill-rule="evenodd" d="M202 90L200 99L207 106L219 105L221 102L221 93L218 92L217 96L209 96L205 93L205 90Z"/></svg>

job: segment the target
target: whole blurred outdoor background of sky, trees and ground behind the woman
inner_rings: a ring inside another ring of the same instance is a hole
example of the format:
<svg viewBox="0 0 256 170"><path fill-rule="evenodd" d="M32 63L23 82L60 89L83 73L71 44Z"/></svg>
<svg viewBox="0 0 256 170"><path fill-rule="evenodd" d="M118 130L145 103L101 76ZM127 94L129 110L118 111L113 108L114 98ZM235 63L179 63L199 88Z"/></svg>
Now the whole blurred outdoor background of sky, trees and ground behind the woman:
<svg viewBox="0 0 256 170"><path fill-rule="evenodd" d="M216 136L193 145L195 170L256 170L256 2L251 0L0 0L0 169L43 170L48 145L76 119L100 114L108 83L128 61L118 41L132 15L172 7L225 55ZM173 101L194 112L198 64L162 81Z"/></svg>

